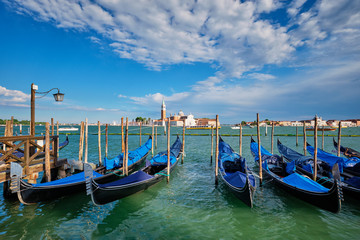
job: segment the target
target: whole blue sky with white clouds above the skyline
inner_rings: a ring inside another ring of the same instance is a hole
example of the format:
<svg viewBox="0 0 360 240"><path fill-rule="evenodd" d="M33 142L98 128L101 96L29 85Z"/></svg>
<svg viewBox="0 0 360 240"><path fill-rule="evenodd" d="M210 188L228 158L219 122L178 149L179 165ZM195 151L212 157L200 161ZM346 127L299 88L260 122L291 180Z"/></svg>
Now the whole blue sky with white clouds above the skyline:
<svg viewBox="0 0 360 240"><path fill-rule="evenodd" d="M0 0L0 118L360 118L360 1Z"/></svg>

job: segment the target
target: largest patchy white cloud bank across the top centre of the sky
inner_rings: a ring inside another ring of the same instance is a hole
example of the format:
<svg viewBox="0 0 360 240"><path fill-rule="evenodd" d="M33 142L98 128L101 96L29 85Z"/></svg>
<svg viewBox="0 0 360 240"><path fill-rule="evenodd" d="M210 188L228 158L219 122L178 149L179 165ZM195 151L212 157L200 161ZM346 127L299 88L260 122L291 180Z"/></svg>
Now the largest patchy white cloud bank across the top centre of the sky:
<svg viewBox="0 0 360 240"><path fill-rule="evenodd" d="M259 19L279 1L15 0L18 12L59 28L95 31L122 58L151 69L205 62L229 77L288 59L294 51L286 28ZM93 41L98 39L92 37Z"/></svg>

